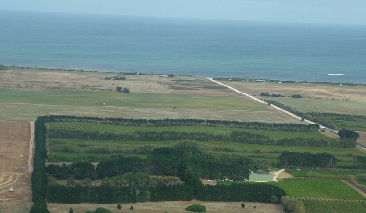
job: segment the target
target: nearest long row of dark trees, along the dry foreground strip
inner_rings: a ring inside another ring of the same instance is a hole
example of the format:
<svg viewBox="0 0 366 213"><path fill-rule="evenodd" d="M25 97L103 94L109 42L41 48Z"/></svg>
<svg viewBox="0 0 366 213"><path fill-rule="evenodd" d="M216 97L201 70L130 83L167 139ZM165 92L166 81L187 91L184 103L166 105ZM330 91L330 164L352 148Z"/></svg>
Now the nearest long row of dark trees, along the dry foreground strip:
<svg viewBox="0 0 366 213"><path fill-rule="evenodd" d="M223 202L271 202L271 197L285 196L278 186L254 183L226 185L157 185L137 190L128 186L64 186L49 185L48 202L75 203L134 203L158 201L223 201Z"/></svg>

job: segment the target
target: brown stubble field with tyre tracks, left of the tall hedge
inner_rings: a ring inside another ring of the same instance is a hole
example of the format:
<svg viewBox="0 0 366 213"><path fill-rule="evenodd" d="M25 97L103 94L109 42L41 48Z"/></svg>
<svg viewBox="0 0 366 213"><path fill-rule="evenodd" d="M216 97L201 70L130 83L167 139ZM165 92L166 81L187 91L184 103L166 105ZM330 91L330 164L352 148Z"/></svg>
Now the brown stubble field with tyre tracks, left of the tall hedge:
<svg viewBox="0 0 366 213"><path fill-rule="evenodd" d="M0 212L20 212L31 207L28 155L31 138L29 122L0 122ZM19 171L14 171L19 167ZM10 187L15 193L8 192Z"/></svg>

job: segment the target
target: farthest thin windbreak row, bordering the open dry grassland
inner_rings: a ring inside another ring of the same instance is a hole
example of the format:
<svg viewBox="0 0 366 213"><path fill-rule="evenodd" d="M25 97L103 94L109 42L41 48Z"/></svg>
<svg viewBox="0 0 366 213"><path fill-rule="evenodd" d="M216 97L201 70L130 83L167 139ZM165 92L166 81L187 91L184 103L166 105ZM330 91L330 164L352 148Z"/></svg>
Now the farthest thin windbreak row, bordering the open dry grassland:
<svg viewBox="0 0 366 213"><path fill-rule="evenodd" d="M122 126L217 126L238 129L255 129L283 132L317 132L317 124L296 124L296 123L261 123L261 122L239 122L220 121L204 119L128 119L128 118L97 118L78 117L71 115L47 115L45 122L91 122Z"/></svg>

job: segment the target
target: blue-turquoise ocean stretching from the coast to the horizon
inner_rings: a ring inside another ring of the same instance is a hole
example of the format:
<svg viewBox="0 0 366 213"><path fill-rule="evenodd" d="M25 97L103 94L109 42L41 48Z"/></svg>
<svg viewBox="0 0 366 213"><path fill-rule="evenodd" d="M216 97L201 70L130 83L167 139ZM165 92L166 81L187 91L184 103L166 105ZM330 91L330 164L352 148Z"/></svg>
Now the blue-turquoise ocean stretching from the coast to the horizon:
<svg viewBox="0 0 366 213"><path fill-rule="evenodd" d="M366 84L366 26L0 10L0 64Z"/></svg>

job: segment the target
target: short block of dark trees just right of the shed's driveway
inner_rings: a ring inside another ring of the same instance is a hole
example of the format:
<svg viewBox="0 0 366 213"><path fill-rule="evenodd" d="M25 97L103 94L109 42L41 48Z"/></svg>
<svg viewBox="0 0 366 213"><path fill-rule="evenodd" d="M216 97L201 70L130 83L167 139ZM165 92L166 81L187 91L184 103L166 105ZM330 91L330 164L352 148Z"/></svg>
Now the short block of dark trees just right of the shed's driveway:
<svg viewBox="0 0 366 213"><path fill-rule="evenodd" d="M312 154L309 152L283 152L279 156L277 166L289 168L290 166L311 166L333 168L336 165L336 158L329 153Z"/></svg>

